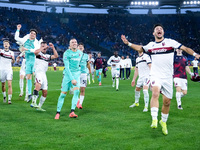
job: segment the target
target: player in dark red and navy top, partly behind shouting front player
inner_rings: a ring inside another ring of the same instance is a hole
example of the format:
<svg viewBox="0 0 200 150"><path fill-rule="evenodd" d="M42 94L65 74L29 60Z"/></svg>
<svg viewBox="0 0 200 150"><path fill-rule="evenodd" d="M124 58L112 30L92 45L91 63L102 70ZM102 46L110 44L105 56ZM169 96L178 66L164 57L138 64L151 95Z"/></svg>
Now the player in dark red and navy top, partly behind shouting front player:
<svg viewBox="0 0 200 150"><path fill-rule="evenodd" d="M176 87L176 101L178 109L183 109L181 105L181 97L187 94L187 73L193 76L190 71L187 57L182 54L182 50L176 50L177 55L174 57L174 86Z"/></svg>

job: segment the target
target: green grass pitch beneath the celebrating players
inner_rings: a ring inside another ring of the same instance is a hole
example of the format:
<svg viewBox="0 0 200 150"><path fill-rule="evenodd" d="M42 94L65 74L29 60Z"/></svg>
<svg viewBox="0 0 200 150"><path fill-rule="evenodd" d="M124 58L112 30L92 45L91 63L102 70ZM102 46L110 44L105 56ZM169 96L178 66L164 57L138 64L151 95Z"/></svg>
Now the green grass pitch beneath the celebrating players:
<svg viewBox="0 0 200 150"><path fill-rule="evenodd" d="M12 104L4 104L0 95L0 149L200 149L200 83L189 81L188 94L182 98L183 110L177 109L174 92L167 122L169 134L164 136L160 125L150 128L150 112L142 112L142 91L140 106L129 108L134 102L131 80L120 80L119 91L115 91L110 72L107 75L101 87L96 78L88 85L83 109L76 109L78 118L68 117L72 95L67 95L60 119L54 120L62 72L47 72L46 112L31 108L24 97L19 97L19 72L14 72Z"/></svg>

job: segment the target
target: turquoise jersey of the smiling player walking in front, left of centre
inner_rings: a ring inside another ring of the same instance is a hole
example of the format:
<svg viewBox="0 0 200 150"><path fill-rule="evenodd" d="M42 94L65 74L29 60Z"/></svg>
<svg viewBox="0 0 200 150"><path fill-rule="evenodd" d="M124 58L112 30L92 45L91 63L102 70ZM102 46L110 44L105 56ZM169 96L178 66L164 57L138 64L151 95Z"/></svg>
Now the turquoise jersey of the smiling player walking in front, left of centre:
<svg viewBox="0 0 200 150"><path fill-rule="evenodd" d="M68 81L72 81L77 76L80 76L80 62L83 56L83 52L77 50L76 52L68 49L64 52L63 61L65 65L64 75Z"/></svg>

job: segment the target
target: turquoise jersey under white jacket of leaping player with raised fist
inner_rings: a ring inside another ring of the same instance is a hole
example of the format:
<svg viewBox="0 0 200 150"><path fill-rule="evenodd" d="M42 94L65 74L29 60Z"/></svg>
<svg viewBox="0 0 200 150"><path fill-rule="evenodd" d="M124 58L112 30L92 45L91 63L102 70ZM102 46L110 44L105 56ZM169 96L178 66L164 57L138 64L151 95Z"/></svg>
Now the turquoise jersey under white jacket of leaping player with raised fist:
<svg viewBox="0 0 200 150"><path fill-rule="evenodd" d="M30 49L34 49L34 41L35 40L27 40L24 43L24 47L27 48L28 50L25 51L25 58L26 58L26 63L35 63L35 54L33 52L30 52Z"/></svg>

